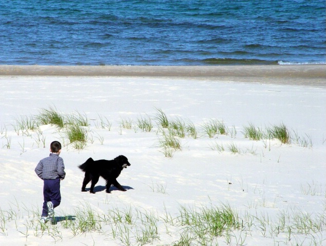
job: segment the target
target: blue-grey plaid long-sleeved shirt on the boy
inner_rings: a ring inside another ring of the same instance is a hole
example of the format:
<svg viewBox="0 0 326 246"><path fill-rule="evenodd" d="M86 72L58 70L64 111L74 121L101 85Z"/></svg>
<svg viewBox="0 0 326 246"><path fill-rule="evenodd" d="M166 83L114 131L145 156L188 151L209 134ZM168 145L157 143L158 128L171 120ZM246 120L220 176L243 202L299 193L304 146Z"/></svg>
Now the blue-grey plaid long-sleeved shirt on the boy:
<svg viewBox="0 0 326 246"><path fill-rule="evenodd" d="M49 157L40 160L35 173L42 179L64 179L66 176L63 159L59 155L50 153Z"/></svg>

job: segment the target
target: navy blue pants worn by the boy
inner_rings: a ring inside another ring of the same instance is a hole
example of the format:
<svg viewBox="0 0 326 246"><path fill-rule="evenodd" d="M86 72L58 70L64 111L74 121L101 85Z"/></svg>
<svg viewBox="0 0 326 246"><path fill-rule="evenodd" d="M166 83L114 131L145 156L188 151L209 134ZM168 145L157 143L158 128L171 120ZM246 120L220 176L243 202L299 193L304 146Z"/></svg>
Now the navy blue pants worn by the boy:
<svg viewBox="0 0 326 246"><path fill-rule="evenodd" d="M42 217L48 216L48 206L47 202L52 201L53 207L57 207L61 202L61 194L60 194L60 178L57 179L44 179L44 187L43 187L43 210Z"/></svg>

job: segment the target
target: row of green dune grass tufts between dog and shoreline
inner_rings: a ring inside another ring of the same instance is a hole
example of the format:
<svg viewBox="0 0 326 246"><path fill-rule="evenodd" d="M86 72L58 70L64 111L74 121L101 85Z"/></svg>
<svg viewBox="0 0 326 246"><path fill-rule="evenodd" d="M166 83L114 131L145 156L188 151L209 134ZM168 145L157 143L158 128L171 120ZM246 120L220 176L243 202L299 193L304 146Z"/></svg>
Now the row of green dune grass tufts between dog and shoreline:
<svg viewBox="0 0 326 246"><path fill-rule="evenodd" d="M218 137L217 135L228 135L231 138L235 138L237 134L236 127L229 129L226 127L223 120L210 119L201 124L201 129L198 130L193 122L190 120L184 121L181 117L169 118L163 112L162 109L157 109L157 114L154 116L154 120L146 115L140 116L136 122L133 122L131 118L121 118L119 121L120 134L122 134L122 128L130 130L133 129L135 133L140 129L143 132L151 132L155 130L159 137L158 147L161 148L161 152L164 153L166 157L172 157L175 151L181 150L180 138L191 137L198 139L200 132L204 133L202 137L208 136L209 138ZM103 116L100 116L100 121L95 122L96 128L102 128L106 130L111 130L112 123ZM96 119L92 119L96 120ZM155 125L156 123L156 125ZM54 125L57 127L57 131L64 131L64 134L60 133L62 136L62 141L67 142L75 149L82 150L90 142L93 144L92 137L88 139L88 133L92 128L90 124L90 119L87 117L86 113L79 113L78 111L72 114L62 114L54 108L41 109L40 114L36 116L21 116L15 120L15 125L13 128L15 132L20 135L26 135L32 137L37 147L45 146L45 137L40 130L42 125ZM11 136L8 136L7 129L4 131L2 128L1 132L5 132L3 139L7 139L7 142L3 141L3 148L10 149L12 147ZM251 140L263 140L265 148L267 147L267 140L270 140L271 151L271 140L279 139L282 144L291 144L294 141L297 145L301 147L312 147L313 142L308 134L305 136L298 136L298 133L294 132L294 135L290 133L288 128L282 123L279 125L272 125L266 127L265 130L256 127L254 124L250 123L248 126L243 126L243 137L249 138ZM37 136L35 136L35 134ZM2 134L3 135L3 134ZM67 141L66 141L67 139ZM101 144L103 145L103 137L99 136ZM232 153L240 153L237 151L237 147L232 143L227 143L225 146ZM218 150L222 152L222 146L210 145L210 149Z"/></svg>

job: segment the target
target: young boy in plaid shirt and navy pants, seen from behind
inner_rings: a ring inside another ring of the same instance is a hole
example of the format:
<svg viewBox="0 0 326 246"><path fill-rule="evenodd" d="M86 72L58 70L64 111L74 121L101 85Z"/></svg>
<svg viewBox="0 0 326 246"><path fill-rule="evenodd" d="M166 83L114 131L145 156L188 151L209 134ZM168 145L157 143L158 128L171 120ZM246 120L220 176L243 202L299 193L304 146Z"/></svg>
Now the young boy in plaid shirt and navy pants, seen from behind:
<svg viewBox="0 0 326 246"><path fill-rule="evenodd" d="M61 144L53 141L50 145L50 156L40 160L35 168L35 173L44 181L43 210L41 222L46 223L54 217L54 208L61 202L60 180L66 176L63 159L59 157Z"/></svg>

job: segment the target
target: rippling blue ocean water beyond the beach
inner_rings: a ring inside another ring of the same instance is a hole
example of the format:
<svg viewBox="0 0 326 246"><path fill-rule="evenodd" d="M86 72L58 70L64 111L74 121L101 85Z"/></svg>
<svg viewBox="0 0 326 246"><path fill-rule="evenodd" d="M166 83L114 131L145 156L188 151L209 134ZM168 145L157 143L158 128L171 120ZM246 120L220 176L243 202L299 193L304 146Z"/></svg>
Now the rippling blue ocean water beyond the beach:
<svg viewBox="0 0 326 246"><path fill-rule="evenodd" d="M324 0L2 0L0 64L324 64Z"/></svg>

